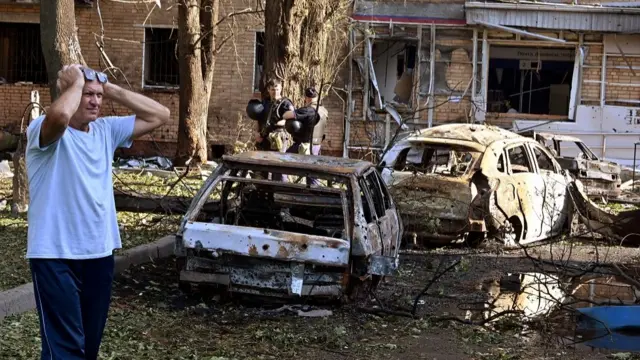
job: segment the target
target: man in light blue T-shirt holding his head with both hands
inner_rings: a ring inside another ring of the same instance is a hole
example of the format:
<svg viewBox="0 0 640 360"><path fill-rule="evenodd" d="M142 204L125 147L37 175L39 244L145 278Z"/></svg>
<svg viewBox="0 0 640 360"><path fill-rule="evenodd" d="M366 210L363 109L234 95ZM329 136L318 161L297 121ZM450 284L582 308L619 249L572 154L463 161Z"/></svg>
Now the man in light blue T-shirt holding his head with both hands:
<svg viewBox="0 0 640 360"><path fill-rule="evenodd" d="M27 254L41 359L96 359L121 247L111 164L118 147L169 120L169 109L81 65L58 72L60 96L27 128ZM133 115L100 116L103 99Z"/></svg>

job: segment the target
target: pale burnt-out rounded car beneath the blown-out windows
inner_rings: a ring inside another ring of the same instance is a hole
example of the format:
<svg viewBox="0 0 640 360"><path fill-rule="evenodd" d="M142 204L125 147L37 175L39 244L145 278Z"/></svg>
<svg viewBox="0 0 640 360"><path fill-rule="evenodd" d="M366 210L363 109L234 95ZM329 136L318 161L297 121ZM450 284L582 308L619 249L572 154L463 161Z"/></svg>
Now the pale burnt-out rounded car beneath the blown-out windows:
<svg viewBox="0 0 640 360"><path fill-rule="evenodd" d="M380 166L405 236L416 242L489 234L516 246L570 229L571 177L544 146L498 127L419 130L393 144Z"/></svg>

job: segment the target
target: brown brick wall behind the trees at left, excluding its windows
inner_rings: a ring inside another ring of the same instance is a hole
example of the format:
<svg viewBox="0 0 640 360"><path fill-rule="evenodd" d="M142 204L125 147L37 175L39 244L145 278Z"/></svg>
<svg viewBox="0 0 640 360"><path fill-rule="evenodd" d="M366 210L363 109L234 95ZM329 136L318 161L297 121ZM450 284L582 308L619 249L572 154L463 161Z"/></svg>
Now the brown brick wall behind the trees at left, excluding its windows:
<svg viewBox="0 0 640 360"><path fill-rule="evenodd" d="M223 16L226 13L248 8L255 2L250 0L222 1ZM100 35L104 35L104 52L113 65L119 68L124 76L119 75L115 81L128 88L129 81L135 91L158 100L171 110L171 121L157 129L147 138L136 141L129 153L158 154L171 156L175 149L173 144L178 135L178 103L177 90L151 90L142 88L144 26L177 28L177 6L173 2L163 1L163 8L153 8L151 4L132 4L116 1L100 2L100 13L97 7L76 7L76 22L82 53L87 64L94 68L104 69L105 62L95 44ZM20 14L19 18L16 18ZM24 4L0 4L0 21L39 22L39 7ZM227 42L216 58L214 84L209 108L209 136L212 144L233 145L236 140L248 141L253 138L255 123L245 114L247 101L254 95L254 57L255 31L261 27L254 16L234 17L233 40ZM103 26L101 26L101 23ZM104 33L102 32L104 29ZM219 38L229 35L229 26L222 26ZM39 90L41 102L49 105L49 92L46 85L0 85L0 127L18 123L25 106L29 102L31 90ZM344 97L344 94L341 95ZM329 110L327 126L327 142L325 152L342 151L343 104L335 95L323 101ZM127 109L107 101L103 104L103 114L123 115ZM153 142L145 142L153 140ZM161 150L158 150L160 148Z"/></svg>

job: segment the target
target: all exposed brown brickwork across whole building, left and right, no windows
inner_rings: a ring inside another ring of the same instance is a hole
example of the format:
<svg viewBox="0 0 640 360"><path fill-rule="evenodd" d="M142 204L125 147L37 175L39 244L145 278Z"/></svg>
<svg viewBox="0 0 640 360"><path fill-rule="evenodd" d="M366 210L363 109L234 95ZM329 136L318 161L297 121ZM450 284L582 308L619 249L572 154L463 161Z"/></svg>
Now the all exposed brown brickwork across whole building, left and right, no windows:
<svg viewBox="0 0 640 360"><path fill-rule="evenodd" d="M173 0L172 0L173 1ZM412 1L405 0L387 0L387 2L397 2L398 6ZM413 1L415 3L434 2L434 3L451 3L448 0L431 0L431 1ZM456 3L462 3L463 0L456 0ZM570 1L567 1L570 2ZM593 1L594 3L602 3L604 1ZM98 15L96 5L93 7L77 7L76 21L79 28L79 38L87 63L96 68L104 68L105 63L100 58L95 42L104 35L104 50L114 66L120 68L122 73L133 86L134 90L141 91L171 109L172 119L169 124L151 134L150 137L143 140L154 140L153 142L137 141L134 153L144 153L154 151L159 152L158 148L163 149L165 155L171 155L174 150L174 142L178 134L178 93L176 90L149 90L142 89L142 67L143 67L143 42L144 42L144 26L176 26L177 7L174 3L163 1L163 8L154 8L151 4L131 4L116 1L107 1L100 3L100 12L102 19ZM234 9L243 9L250 7L254 2L250 0L226 0L223 1L223 13L233 11ZM587 1L581 1L586 4ZM101 21L102 20L102 21ZM255 123L249 120L244 109L247 101L253 97L253 73L254 73L254 57L255 57L255 31L260 30L260 25L255 18L252 17L236 17L237 21L234 41L229 42L216 58L216 70L214 74L214 86L209 110L209 135L213 144L230 144L237 140L246 142L253 136ZM39 21L39 8L34 5L23 4L0 4L0 21ZM103 27L101 26L103 24ZM177 27L177 26L176 26ZM103 29L104 28L104 33ZM384 34L388 32L388 27L377 27L376 32ZM396 27L395 35L415 35L415 28L406 26L404 29ZM228 28L222 27L220 38L224 38L228 34ZM423 39L428 39L428 27L425 28ZM364 54L364 44L360 42L362 38L356 40L357 48L354 51L355 56ZM451 37L438 37L438 44L457 45L463 47L471 46L471 36L463 36L458 39ZM590 41L597 41L591 39ZM346 49L343 49L346 51ZM587 64L599 65L601 62L602 46L591 45L589 56L586 59ZM600 55L598 55L600 54ZM440 60L440 53L437 53L437 60ZM640 58L632 58L632 61L640 62ZM344 69L338 77L335 84L338 88L345 88L347 79L348 63L345 61ZM626 65L622 58L610 58L607 65ZM428 66L428 63L423 63ZM638 64L636 64L637 66ZM478 69L480 65L478 65ZM467 52L463 49L453 51L451 60L447 63L444 76L447 85L456 92L461 94L466 88L471 78L471 59ZM380 124L363 124L358 123L362 119L363 113L363 79L359 76L357 66L353 67L354 77L352 88L353 91L353 109L351 123L351 143L371 143L372 134L380 134ZM600 80L600 70L598 68L584 69L585 80ZM607 73L607 81L610 82L637 82L640 79L631 76L627 69L610 69ZM122 86L127 86L124 77L120 76L118 82ZM479 88L479 84L478 84ZM41 101L46 106L49 102L48 90L42 85L0 85L0 101L3 104L0 110L0 126L6 126L10 123L17 123L22 116L22 112L29 101L29 93L31 90L37 89L41 92ZM590 101L599 101L600 85L599 84L583 84L583 103L588 104ZM344 110L343 101L347 100L347 94L339 92L340 97L332 93L324 100L324 105L329 110L329 123L327 125L327 141L324 146L325 153L339 155L342 152L342 139L344 136ZM470 91L467 95L460 99L451 99L448 95L436 96L435 103L437 107L434 109L434 123L460 122L466 121L471 109ZM638 99L640 97L640 88L607 87L608 99ZM426 99L421 99L424 102ZM421 106L423 106L422 104ZM127 110L115 104L104 104L105 114L126 114ZM420 113L420 119L426 123L428 111ZM375 129L375 131L374 131ZM393 133L394 130L392 130Z"/></svg>

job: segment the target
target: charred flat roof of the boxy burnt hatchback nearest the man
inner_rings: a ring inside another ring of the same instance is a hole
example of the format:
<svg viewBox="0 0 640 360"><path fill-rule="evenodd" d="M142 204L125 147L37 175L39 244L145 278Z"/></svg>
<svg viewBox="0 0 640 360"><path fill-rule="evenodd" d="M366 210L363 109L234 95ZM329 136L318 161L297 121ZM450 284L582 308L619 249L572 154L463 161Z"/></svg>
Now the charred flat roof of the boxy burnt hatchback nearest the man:
<svg viewBox="0 0 640 360"><path fill-rule="evenodd" d="M374 165L365 160L334 156L301 155L277 151L246 151L234 155L223 155L225 163L296 168L340 175L360 175Z"/></svg>

